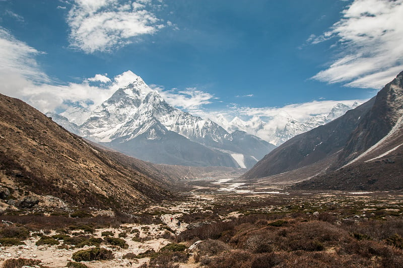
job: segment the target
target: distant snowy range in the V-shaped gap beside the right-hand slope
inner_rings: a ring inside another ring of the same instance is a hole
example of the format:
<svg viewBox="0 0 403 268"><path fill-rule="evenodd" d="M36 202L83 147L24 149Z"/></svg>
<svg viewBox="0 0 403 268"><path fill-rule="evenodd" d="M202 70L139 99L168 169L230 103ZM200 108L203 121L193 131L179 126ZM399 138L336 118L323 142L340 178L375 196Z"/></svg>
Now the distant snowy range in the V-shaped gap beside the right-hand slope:
<svg viewBox="0 0 403 268"><path fill-rule="evenodd" d="M352 106L338 103L332 107L327 115L311 116L304 122L298 121L284 111L278 113L266 122L261 120L258 116L253 116L248 121L234 117L234 119L229 122L222 114L217 116L217 122L229 132L236 130L245 131L276 146L280 146L292 137L324 125L344 115L348 110L356 108L358 105L357 102ZM278 122L283 122L284 125L280 127L278 126Z"/></svg>

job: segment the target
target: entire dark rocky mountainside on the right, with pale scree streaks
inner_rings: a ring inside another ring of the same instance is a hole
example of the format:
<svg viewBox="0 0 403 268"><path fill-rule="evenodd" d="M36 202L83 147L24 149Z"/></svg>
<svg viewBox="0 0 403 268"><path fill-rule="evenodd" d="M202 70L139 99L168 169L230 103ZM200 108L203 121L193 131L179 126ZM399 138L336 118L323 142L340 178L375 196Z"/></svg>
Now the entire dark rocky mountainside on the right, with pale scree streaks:
<svg viewBox="0 0 403 268"><path fill-rule="evenodd" d="M402 120L403 72L370 101L285 142L239 180L307 180L293 189L401 190Z"/></svg>

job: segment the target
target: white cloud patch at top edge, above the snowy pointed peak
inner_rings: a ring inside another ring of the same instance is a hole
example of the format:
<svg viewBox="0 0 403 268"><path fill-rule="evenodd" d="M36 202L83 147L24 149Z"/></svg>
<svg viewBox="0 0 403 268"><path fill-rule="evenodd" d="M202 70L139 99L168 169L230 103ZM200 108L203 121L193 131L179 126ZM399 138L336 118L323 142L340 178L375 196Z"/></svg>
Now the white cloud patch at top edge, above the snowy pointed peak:
<svg viewBox="0 0 403 268"><path fill-rule="evenodd" d="M107 52L161 29L160 19L148 11L151 3L118 0L76 0L68 15L70 43L86 53Z"/></svg>

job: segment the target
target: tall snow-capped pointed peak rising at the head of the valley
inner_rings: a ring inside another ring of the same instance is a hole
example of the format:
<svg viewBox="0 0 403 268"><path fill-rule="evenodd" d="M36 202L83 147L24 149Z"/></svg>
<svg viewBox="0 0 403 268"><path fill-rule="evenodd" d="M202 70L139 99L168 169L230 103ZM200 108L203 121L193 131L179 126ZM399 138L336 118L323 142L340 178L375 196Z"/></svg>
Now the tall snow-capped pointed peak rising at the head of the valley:
<svg viewBox="0 0 403 268"><path fill-rule="evenodd" d="M246 132L230 134L210 119L170 106L140 76L96 107L78 129L102 145L165 164L246 168L275 148Z"/></svg>

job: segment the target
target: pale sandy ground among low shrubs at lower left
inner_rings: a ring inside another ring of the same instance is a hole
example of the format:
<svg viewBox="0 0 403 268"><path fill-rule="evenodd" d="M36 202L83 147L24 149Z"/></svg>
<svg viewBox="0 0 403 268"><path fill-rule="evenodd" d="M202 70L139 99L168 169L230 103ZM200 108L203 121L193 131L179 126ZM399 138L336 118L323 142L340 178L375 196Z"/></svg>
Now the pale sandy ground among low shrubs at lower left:
<svg viewBox="0 0 403 268"><path fill-rule="evenodd" d="M181 223L180 228L177 227L176 218L182 215L181 212L185 211L186 208L189 208L190 205L197 206L195 203L183 203L176 207L172 207L170 210L174 212L178 212L175 214L163 214L160 216L161 220L168 225L172 230L175 231L175 234L179 234L180 232L186 230L186 223ZM157 207L154 207L157 208ZM171 222L171 217L173 221ZM165 232L165 229L161 229L160 225L149 224L149 225L139 225L139 224L125 224L122 225L121 228L104 228L97 229L94 233L94 237L102 237L101 233L104 231L112 231L115 233L115 237L118 237L118 234L132 229L137 229L140 231L140 237L151 236L154 237L151 240L144 242L136 242L132 241L132 238L135 234L128 233L126 238L122 238L129 245L127 249L121 249L120 247L113 247L109 245L101 245L106 249L112 250L115 258L112 260L102 260L102 261L83 261L89 267L93 268L110 268L110 267L139 267L143 263L149 261L149 258L141 258L141 259L125 259L122 256L126 253L143 253L149 249L154 249L158 251L161 247L169 244L170 242L164 238L156 238L159 235L162 235ZM77 230L80 231L80 230ZM49 236L56 234L52 232ZM20 246L1 246L0 247L0 265L3 265L4 260L10 258L31 258L31 259L39 259L42 261L42 265L48 267L65 267L65 265L72 260L72 255L74 252L82 249L88 249L90 246L84 246L83 248L78 249L58 249L58 245L35 245L35 242L39 239L39 237L31 237L28 240L25 240L26 245ZM180 267L198 267L195 264L191 263L191 258L189 260L189 264L179 263Z"/></svg>

